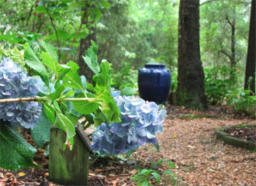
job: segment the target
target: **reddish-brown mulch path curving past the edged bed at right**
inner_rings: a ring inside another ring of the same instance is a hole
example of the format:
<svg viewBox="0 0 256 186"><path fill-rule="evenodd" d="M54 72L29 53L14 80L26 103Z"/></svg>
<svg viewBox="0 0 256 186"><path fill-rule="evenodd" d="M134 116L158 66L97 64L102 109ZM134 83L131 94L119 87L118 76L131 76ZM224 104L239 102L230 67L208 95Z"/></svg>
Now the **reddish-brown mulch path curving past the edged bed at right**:
<svg viewBox="0 0 256 186"><path fill-rule="evenodd" d="M156 150L146 146L137 157L147 154L154 160L172 160L176 168L171 171L178 177L178 185L256 185L256 153L224 144L214 136L216 127L256 122L255 119L233 119L234 115L227 113L222 117L220 111L174 109L169 110L164 133L158 136L161 153L156 154ZM191 117L209 118L191 119L184 117L185 112ZM166 184L171 183L174 182Z"/></svg>

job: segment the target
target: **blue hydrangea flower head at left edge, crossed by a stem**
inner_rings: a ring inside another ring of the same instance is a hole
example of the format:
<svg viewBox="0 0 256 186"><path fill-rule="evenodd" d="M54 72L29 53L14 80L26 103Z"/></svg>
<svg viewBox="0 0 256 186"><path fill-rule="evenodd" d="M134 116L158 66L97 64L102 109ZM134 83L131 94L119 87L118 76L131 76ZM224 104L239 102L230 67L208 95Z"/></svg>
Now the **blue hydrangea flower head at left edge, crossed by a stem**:
<svg viewBox="0 0 256 186"><path fill-rule="evenodd" d="M9 58L0 64L0 98L28 98L37 94L36 79L29 77L19 65ZM35 125L42 112L39 102L0 103L0 119L12 125L29 129Z"/></svg>

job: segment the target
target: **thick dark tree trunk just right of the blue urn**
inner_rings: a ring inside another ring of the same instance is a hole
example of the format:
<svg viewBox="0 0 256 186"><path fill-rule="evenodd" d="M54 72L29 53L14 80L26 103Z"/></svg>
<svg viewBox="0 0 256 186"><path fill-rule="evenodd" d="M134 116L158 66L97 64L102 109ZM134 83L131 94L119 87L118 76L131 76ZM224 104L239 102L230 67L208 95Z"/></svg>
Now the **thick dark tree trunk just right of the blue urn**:
<svg viewBox="0 0 256 186"><path fill-rule="evenodd" d="M205 109L204 74L199 50L199 0L181 0L178 22L178 105Z"/></svg>

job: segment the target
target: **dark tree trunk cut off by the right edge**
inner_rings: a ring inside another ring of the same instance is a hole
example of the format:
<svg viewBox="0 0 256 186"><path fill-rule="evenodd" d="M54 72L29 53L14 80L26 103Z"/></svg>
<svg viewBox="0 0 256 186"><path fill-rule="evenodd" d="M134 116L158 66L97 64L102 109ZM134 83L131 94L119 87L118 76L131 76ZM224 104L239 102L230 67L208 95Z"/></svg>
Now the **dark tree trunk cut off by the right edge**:
<svg viewBox="0 0 256 186"><path fill-rule="evenodd" d="M247 61L245 69L245 81L244 90L250 88L250 90L255 94L255 72L256 72L256 38L255 38L255 8L256 1L251 0L251 19L250 19L250 29L248 38L248 49L247 49ZM251 80L249 80L251 77Z"/></svg>

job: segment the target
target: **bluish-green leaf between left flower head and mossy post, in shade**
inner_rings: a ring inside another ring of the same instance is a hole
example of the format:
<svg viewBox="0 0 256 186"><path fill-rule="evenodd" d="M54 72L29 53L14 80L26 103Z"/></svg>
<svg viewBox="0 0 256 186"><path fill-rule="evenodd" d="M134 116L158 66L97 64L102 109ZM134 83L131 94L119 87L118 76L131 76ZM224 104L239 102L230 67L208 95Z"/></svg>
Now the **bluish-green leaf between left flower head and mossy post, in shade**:
<svg viewBox="0 0 256 186"><path fill-rule="evenodd" d="M31 136L36 146L43 148L44 144L50 142L51 122L42 114L40 121L31 129Z"/></svg>

